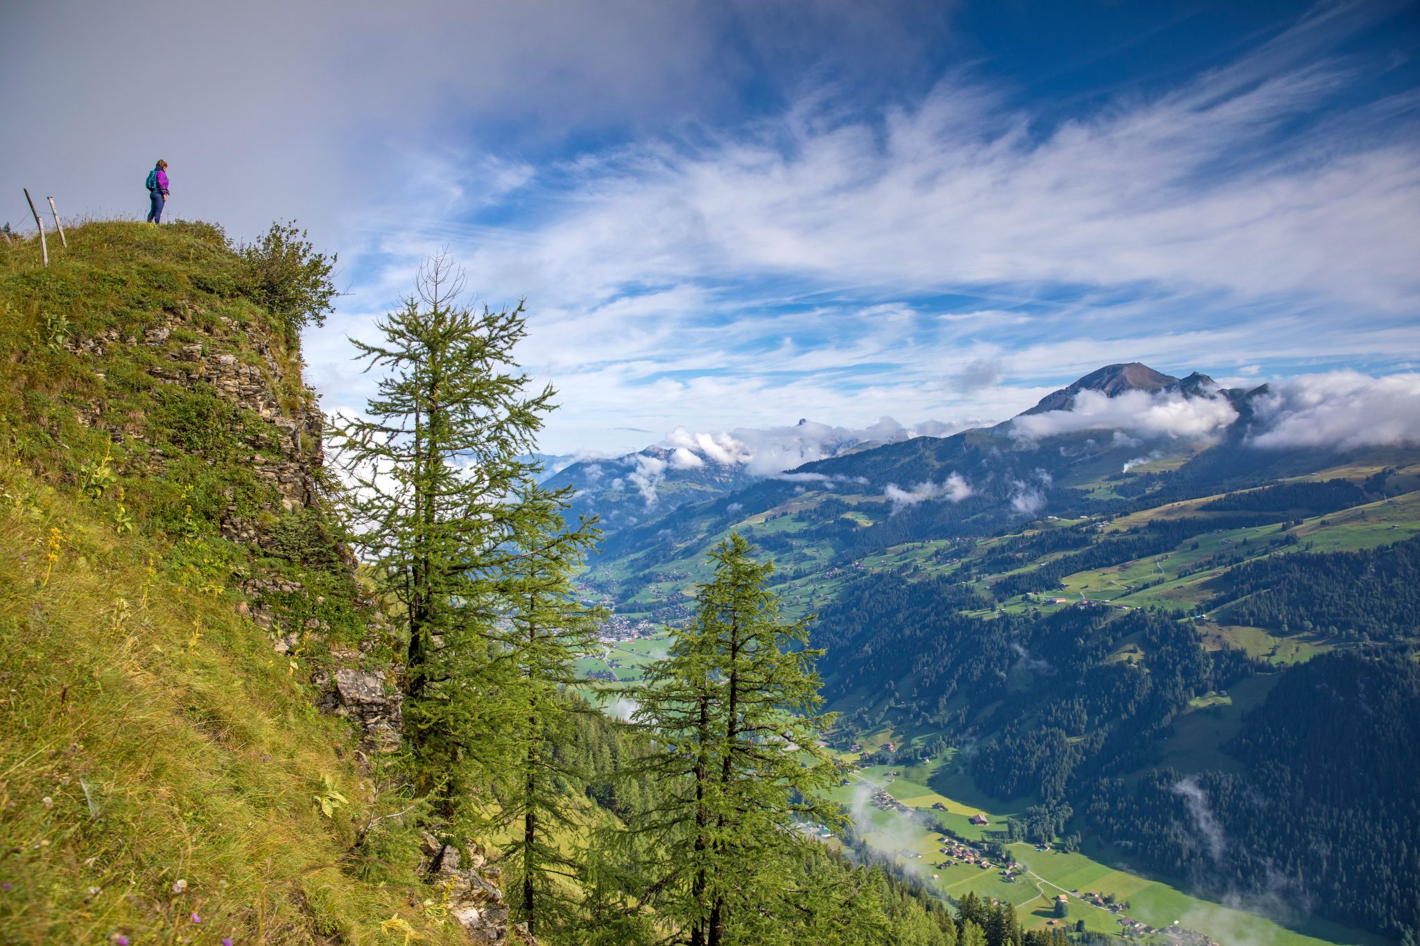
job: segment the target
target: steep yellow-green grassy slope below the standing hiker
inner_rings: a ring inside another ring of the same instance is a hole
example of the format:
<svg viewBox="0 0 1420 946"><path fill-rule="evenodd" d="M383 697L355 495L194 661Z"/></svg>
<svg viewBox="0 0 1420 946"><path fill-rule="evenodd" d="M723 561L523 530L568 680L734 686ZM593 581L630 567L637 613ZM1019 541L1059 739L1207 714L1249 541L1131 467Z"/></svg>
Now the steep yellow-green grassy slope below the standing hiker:
<svg viewBox="0 0 1420 946"><path fill-rule="evenodd" d="M0 255L0 942L466 942L312 705L390 650L294 342L212 227L68 237Z"/></svg>

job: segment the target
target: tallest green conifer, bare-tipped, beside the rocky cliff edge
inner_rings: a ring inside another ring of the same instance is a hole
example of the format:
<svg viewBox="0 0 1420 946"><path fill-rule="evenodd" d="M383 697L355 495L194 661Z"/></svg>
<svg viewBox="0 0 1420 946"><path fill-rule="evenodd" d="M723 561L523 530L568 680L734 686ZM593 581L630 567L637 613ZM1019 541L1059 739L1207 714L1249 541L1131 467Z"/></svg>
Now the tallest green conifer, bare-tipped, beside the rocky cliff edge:
<svg viewBox="0 0 1420 946"><path fill-rule="evenodd" d="M552 389L530 391L513 357L523 305L460 306L462 286L435 257L405 306L376 322L383 342L352 339L366 370L388 374L364 417L331 430L354 486L351 539L399 603L417 787L446 817L514 750L500 580L507 543L535 530L515 501L534 472L521 457L554 407Z"/></svg>

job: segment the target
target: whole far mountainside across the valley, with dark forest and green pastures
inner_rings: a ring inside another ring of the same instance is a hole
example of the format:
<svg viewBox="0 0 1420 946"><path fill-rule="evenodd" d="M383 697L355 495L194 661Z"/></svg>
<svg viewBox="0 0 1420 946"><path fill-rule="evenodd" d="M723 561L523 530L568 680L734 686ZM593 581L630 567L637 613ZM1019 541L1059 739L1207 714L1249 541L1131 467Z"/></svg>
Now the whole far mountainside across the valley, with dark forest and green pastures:
<svg viewBox="0 0 1420 946"><path fill-rule="evenodd" d="M1208 399L1231 421L1149 440L1072 421L1082 391ZM1420 739L1420 450L1260 448L1265 397L1112 366L994 428L655 518L588 581L630 620L676 620L699 549L740 530L818 614L851 757L932 759L943 793L966 779L1027 806L1001 840L1400 940L1420 928L1420 790L1400 777Z"/></svg>

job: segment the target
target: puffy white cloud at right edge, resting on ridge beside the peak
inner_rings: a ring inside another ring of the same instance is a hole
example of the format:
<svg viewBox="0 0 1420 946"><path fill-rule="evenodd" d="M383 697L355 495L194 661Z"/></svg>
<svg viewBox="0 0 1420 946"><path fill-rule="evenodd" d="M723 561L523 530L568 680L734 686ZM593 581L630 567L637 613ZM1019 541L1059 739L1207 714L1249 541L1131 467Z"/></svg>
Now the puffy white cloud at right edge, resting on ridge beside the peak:
<svg viewBox="0 0 1420 946"><path fill-rule="evenodd" d="M1420 374L1304 374L1268 386L1258 401L1264 448L1420 444Z"/></svg>

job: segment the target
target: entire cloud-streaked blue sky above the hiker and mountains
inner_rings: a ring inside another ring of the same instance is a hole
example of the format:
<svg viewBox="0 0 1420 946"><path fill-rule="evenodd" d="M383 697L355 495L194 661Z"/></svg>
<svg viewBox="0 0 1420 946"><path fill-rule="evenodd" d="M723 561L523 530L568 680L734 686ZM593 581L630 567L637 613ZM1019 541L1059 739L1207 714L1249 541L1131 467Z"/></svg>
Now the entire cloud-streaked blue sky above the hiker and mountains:
<svg viewBox="0 0 1420 946"><path fill-rule="evenodd" d="M298 218L349 292L307 338L328 408L442 248L528 299L557 452L1420 359L1417 3L155 6L149 57L138 7L34 7L6 187L139 213L162 155L173 213Z"/></svg>

